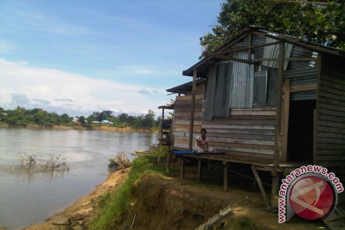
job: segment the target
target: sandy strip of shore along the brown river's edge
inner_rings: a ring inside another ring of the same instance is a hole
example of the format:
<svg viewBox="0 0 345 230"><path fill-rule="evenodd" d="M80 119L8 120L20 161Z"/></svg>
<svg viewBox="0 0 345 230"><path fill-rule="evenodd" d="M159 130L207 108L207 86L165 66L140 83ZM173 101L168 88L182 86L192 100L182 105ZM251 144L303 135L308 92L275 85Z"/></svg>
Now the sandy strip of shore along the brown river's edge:
<svg viewBox="0 0 345 230"><path fill-rule="evenodd" d="M87 229L87 226L97 217L96 206L100 196L110 190L117 189L127 178L129 169L115 171L99 184L89 195L80 198L71 206L56 213L46 222L34 224L25 230L62 230L62 229Z"/></svg>

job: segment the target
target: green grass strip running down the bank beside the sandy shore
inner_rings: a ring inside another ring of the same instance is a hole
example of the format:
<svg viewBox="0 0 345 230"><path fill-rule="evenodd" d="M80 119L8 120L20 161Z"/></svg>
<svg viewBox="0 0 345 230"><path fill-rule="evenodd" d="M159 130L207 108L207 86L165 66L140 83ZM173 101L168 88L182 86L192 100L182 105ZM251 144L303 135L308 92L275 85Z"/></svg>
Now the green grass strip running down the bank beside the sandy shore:
<svg viewBox="0 0 345 230"><path fill-rule="evenodd" d="M163 147L161 152L166 152ZM164 174L165 164L157 165L158 150L154 150L149 155L142 155L133 161L131 171L129 172L126 182L114 192L108 192L100 198L99 201L99 218L90 226L91 230L114 229L121 224L124 214L130 209L131 197L130 192L132 184L145 171L153 174ZM166 154L160 157L160 162L164 163Z"/></svg>

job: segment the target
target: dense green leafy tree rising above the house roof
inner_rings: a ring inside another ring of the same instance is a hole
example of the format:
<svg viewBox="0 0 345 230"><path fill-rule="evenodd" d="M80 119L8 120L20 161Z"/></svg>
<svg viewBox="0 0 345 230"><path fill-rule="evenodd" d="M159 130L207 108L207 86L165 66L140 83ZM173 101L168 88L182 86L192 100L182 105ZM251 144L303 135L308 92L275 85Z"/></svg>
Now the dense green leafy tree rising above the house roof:
<svg viewBox="0 0 345 230"><path fill-rule="evenodd" d="M203 52L213 52L249 25L345 50L345 0L227 0L213 33L200 38Z"/></svg>

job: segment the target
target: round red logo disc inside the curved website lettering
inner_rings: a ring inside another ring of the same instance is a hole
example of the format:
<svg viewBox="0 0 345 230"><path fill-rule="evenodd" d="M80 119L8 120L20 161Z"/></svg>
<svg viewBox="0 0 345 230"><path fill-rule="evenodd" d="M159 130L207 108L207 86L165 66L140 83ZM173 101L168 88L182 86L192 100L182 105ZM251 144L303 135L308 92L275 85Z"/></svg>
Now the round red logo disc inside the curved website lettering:
<svg viewBox="0 0 345 230"><path fill-rule="evenodd" d="M325 216L333 206L334 193L322 178L307 176L297 181L289 195L291 208L307 220Z"/></svg>

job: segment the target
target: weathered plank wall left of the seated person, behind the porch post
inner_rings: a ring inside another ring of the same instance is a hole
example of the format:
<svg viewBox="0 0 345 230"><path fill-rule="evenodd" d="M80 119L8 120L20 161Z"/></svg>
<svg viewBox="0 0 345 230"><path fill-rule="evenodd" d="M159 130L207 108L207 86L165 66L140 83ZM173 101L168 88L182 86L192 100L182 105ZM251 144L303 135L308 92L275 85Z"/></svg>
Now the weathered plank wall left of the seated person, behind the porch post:
<svg viewBox="0 0 345 230"><path fill-rule="evenodd" d="M200 91L199 91L200 92ZM202 91L201 91L202 92ZM200 135L203 95L195 96L193 136ZM188 149L191 96L178 96L175 101L174 147ZM194 146L194 144L193 144Z"/></svg>

